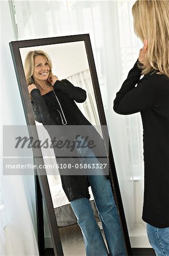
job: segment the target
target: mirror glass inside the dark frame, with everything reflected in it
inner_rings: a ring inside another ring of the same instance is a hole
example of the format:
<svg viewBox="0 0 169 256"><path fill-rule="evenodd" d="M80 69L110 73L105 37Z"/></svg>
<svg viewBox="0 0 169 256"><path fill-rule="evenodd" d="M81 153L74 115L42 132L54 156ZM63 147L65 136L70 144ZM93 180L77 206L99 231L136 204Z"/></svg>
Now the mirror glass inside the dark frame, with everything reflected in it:
<svg viewBox="0 0 169 256"><path fill-rule="evenodd" d="M20 54L37 131L41 126L56 146L43 158L45 164L57 163L48 181L64 255L70 247L73 255L126 255L104 170L108 159L84 42L21 48ZM72 142L73 152L57 147L60 139ZM68 164L78 168L70 172Z"/></svg>

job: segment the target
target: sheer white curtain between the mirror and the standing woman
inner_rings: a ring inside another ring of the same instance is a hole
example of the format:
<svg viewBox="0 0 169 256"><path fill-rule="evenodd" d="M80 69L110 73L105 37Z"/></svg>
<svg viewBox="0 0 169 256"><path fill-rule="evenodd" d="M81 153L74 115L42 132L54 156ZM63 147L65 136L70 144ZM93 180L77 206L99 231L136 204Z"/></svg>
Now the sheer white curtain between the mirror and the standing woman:
<svg viewBox="0 0 169 256"><path fill-rule="evenodd" d="M142 125L140 114L120 116L112 106L142 47L133 31L133 3L14 1L19 40L90 34L129 230L142 224Z"/></svg>

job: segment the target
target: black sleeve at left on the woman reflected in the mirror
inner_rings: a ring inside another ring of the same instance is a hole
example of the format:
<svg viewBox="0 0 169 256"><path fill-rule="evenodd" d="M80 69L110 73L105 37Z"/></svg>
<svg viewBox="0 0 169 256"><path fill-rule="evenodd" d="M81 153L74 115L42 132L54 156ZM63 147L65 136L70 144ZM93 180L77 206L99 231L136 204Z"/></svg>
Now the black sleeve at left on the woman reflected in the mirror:
<svg viewBox="0 0 169 256"><path fill-rule="evenodd" d="M40 90L33 89L31 96L35 120L43 123L43 125L54 125L53 119L50 117L48 106L45 104L44 98L40 95Z"/></svg>

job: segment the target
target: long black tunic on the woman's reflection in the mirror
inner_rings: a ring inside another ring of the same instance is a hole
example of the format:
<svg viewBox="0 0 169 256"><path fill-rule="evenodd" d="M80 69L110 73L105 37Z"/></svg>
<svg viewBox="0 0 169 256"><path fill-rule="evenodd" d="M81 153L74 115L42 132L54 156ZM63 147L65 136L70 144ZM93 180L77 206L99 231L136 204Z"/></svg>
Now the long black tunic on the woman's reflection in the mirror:
<svg viewBox="0 0 169 256"><path fill-rule="evenodd" d="M80 127L80 135L88 137L88 140L92 138L97 142L97 147L96 149L94 148L93 151L95 155L98 156L100 154L100 152L97 152L98 150L102 149L102 151L104 151L103 139L100 137L95 127L84 117L74 102L84 102L86 100L86 91L74 86L67 80L57 80L53 87L54 92L50 91L43 96L41 96L39 89L33 89L31 91L33 113L36 121L43 123L44 127L48 130L51 140L53 140L54 137L66 138L66 136L69 136L69 139L72 136L72 139L74 139L74 135L79 132ZM63 125L65 121L66 126L73 125L74 127L78 127L78 131L71 130L72 134L65 134L65 126ZM88 129L88 127L90 127L90 129ZM57 163L65 163L65 159L58 158L58 151L55 150L55 148L54 152L56 154ZM63 151L62 153L66 154L66 152ZM77 161L78 159L69 159L69 163L73 166L75 166ZM100 162L101 161L102 160L100 160ZM107 158L103 159L103 162L107 163ZM90 198L88 193L88 186L90 184L88 183L87 176L61 175L61 180L62 187L69 201L81 197Z"/></svg>

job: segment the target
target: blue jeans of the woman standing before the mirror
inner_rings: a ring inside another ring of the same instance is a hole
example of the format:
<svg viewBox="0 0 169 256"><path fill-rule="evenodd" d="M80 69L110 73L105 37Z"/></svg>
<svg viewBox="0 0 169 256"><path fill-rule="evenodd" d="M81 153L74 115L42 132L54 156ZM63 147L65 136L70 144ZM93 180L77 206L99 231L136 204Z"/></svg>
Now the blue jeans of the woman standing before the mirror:
<svg viewBox="0 0 169 256"><path fill-rule="evenodd" d="M157 256L169 256L169 227L157 228L147 224L147 235Z"/></svg>

